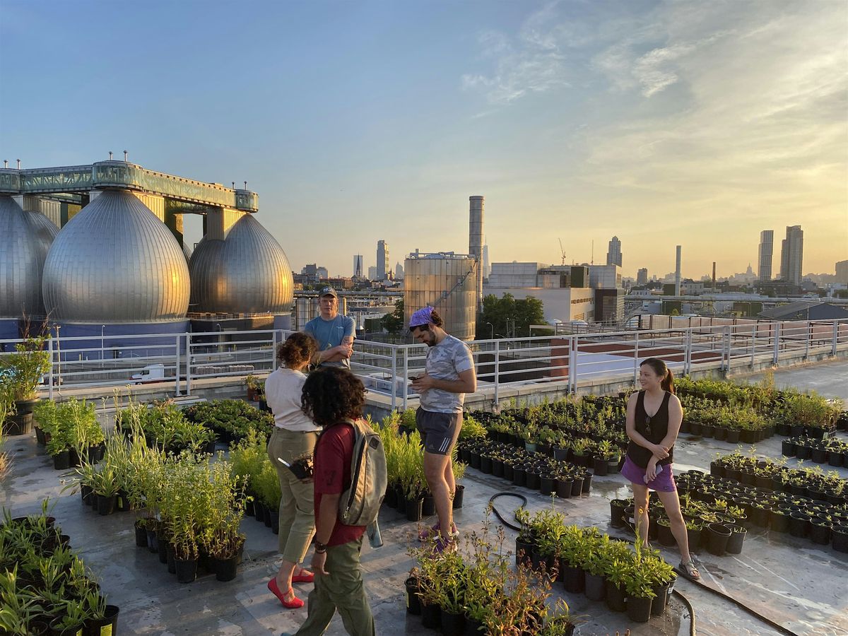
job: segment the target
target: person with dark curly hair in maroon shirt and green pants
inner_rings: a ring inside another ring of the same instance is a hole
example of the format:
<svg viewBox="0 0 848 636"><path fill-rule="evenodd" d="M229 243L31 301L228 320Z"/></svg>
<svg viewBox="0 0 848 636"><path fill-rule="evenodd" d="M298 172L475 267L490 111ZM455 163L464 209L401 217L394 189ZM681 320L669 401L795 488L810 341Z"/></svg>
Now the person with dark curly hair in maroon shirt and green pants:
<svg viewBox="0 0 848 636"><path fill-rule="evenodd" d="M362 417L365 387L341 367L322 367L306 378L303 410L323 431L315 446L315 589L297 636L319 636L338 610L353 636L374 636L374 616L365 596L360 553L365 526L338 522L338 500L350 486L354 427Z"/></svg>

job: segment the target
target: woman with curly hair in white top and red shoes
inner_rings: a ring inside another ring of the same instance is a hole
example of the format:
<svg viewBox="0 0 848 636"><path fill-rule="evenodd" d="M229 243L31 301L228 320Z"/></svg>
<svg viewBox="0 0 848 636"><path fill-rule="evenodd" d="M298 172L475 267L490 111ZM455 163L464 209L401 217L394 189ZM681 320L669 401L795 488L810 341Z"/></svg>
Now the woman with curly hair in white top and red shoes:
<svg viewBox="0 0 848 636"><path fill-rule="evenodd" d="M304 560L315 533L315 515L311 479L298 479L280 460L292 464L315 451L321 428L301 409L301 394L306 382L304 368L317 351L315 338L300 332L291 334L277 347L280 367L265 381L265 399L276 424L268 442L268 457L276 466L282 490L278 538L282 564L268 582L268 589L290 610L304 606L304 601L294 594L292 583L314 580L312 572L298 564Z"/></svg>

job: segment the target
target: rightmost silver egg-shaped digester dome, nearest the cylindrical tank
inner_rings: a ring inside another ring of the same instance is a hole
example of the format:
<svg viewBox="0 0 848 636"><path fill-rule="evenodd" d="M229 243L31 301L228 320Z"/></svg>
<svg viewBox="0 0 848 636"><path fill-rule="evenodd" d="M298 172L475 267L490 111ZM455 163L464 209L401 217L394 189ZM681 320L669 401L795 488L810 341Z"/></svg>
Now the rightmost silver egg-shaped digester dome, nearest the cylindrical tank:
<svg viewBox="0 0 848 636"><path fill-rule="evenodd" d="M189 264L192 311L287 314L293 278L285 252L271 233L244 215L226 238L204 238Z"/></svg>

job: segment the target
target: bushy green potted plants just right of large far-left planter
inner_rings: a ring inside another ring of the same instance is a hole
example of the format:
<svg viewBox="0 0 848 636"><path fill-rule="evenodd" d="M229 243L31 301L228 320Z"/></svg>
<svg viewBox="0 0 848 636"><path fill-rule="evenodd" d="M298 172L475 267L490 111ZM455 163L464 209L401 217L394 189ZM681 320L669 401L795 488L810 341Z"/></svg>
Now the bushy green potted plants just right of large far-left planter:
<svg viewBox="0 0 848 636"><path fill-rule="evenodd" d="M57 404L45 399L36 404L36 439L53 458L53 468L67 470L103 456L103 428L94 404L71 398Z"/></svg>

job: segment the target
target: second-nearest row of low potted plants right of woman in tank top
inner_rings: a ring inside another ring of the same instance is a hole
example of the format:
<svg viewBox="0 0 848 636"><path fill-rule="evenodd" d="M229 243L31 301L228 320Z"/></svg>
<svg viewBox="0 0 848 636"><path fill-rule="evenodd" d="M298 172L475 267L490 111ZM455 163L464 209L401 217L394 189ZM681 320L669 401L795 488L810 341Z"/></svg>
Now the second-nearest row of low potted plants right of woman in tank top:
<svg viewBox="0 0 848 636"><path fill-rule="evenodd" d="M710 463L710 471L756 488L804 495L834 505L848 504L848 482L838 471L825 473L821 466L789 468L785 466L786 460L785 457L778 461L758 459L752 447L748 455L739 450L729 455L717 454Z"/></svg>

